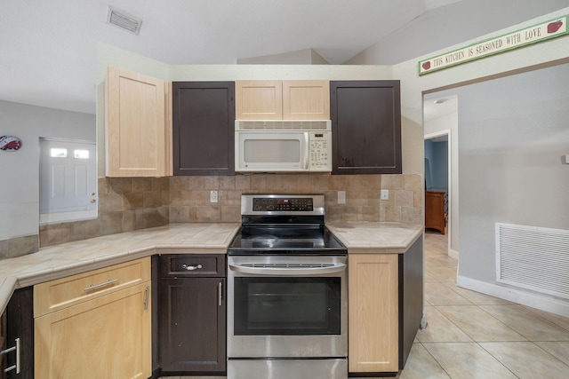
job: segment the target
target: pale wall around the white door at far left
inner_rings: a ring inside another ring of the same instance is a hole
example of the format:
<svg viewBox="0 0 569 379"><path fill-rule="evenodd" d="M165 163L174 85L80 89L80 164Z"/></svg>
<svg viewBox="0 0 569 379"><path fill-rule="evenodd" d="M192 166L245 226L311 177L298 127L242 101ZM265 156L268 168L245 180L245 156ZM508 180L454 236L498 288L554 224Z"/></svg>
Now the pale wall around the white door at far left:
<svg viewBox="0 0 569 379"><path fill-rule="evenodd" d="M0 240L39 233L39 138L95 140L95 115L0 100L0 135L22 140L0 151Z"/></svg>

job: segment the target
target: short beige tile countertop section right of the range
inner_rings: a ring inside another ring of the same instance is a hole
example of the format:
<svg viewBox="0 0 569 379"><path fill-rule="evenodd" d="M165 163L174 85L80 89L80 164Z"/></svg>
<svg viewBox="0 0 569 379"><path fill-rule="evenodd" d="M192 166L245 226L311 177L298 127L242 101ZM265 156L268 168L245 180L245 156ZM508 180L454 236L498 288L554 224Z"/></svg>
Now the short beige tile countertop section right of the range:
<svg viewBox="0 0 569 379"><path fill-rule="evenodd" d="M399 223L326 223L326 226L348 248L357 254L403 254L422 235L423 225Z"/></svg>

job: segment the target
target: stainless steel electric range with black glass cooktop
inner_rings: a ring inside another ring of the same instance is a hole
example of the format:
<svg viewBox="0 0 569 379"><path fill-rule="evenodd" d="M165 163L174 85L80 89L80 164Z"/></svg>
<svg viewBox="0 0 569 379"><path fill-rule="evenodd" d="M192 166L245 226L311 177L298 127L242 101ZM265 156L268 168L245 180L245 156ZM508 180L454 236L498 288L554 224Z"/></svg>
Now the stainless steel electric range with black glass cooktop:
<svg viewBox="0 0 569 379"><path fill-rule="evenodd" d="M347 249L322 194L244 194L228 248L228 379L348 376Z"/></svg>

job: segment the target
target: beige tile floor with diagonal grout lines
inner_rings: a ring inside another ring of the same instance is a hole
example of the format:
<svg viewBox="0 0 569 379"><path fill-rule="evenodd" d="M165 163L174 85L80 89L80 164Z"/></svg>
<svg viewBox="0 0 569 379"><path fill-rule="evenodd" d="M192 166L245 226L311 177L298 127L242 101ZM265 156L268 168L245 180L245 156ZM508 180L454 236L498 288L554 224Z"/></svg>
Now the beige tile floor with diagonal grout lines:
<svg viewBox="0 0 569 379"><path fill-rule="evenodd" d="M397 378L569 378L569 319L456 287L458 262L447 243L425 234L428 325Z"/></svg>

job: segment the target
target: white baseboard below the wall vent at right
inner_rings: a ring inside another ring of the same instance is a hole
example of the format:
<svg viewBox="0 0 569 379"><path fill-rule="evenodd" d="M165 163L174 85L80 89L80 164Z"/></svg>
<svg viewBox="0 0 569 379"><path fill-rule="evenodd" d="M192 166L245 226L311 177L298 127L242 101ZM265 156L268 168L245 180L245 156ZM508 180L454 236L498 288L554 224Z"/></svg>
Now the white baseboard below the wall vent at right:
<svg viewBox="0 0 569 379"><path fill-rule="evenodd" d="M569 317L569 301L558 297L547 296L526 289L506 285L488 283L459 275L456 284L461 288L471 289L486 295L499 297L513 303L527 305L541 311L551 312L559 316Z"/></svg>

